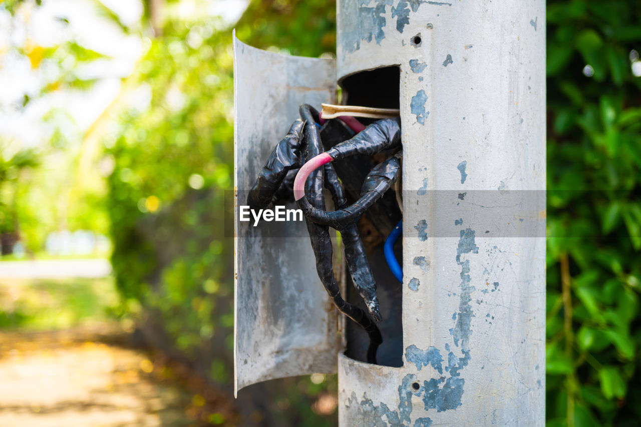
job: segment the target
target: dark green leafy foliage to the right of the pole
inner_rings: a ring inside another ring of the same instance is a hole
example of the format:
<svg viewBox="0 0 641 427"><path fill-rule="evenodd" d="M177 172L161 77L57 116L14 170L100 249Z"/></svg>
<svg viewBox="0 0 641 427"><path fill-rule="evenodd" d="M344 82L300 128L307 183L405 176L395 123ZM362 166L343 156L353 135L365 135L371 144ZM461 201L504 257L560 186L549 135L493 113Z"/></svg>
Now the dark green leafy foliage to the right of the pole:
<svg viewBox="0 0 641 427"><path fill-rule="evenodd" d="M639 22L638 2L547 2L549 426L641 419Z"/></svg>

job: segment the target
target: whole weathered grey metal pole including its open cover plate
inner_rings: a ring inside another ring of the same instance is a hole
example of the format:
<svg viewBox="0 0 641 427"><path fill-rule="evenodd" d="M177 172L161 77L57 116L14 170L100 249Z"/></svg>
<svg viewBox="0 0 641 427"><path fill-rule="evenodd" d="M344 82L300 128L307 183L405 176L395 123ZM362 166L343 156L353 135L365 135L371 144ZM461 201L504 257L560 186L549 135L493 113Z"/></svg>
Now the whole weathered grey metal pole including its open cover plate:
<svg viewBox="0 0 641 427"><path fill-rule="evenodd" d="M235 40L237 205L299 104L338 82L350 105L399 108L403 285L383 312L398 324L381 322L398 344L368 364L347 333L344 353L304 224L237 221L237 389L338 372L344 427L544 425L544 0L338 0L337 15L335 62Z"/></svg>

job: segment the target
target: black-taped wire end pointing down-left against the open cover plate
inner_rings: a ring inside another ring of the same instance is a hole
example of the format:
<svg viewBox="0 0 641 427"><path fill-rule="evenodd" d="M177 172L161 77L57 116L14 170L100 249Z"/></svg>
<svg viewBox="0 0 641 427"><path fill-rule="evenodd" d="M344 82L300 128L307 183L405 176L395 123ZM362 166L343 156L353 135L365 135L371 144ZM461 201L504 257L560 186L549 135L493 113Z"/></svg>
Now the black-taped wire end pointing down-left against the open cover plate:
<svg viewBox="0 0 641 427"><path fill-rule="evenodd" d="M300 140L303 125L300 119L292 123L285 138L276 144L274 151L267 158L265 166L247 195L247 205L251 209L259 210L269 206L287 172L302 166Z"/></svg>

